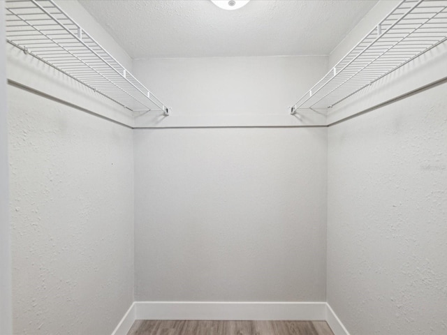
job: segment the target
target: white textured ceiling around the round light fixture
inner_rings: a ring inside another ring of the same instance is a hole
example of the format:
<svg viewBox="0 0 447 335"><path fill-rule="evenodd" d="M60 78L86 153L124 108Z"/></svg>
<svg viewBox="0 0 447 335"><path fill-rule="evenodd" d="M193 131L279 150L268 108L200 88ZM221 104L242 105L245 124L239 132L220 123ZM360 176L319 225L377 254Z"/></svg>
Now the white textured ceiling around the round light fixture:
<svg viewBox="0 0 447 335"><path fill-rule="evenodd" d="M80 0L134 59L330 54L377 0Z"/></svg>

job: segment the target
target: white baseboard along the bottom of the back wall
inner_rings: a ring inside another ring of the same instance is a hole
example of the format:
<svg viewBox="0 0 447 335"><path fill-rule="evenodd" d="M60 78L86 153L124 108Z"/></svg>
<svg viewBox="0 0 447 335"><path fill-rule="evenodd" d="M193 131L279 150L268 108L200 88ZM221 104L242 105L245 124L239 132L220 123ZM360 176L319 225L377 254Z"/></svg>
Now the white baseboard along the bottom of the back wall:
<svg viewBox="0 0 447 335"><path fill-rule="evenodd" d="M325 320L325 302L135 301L136 320Z"/></svg>

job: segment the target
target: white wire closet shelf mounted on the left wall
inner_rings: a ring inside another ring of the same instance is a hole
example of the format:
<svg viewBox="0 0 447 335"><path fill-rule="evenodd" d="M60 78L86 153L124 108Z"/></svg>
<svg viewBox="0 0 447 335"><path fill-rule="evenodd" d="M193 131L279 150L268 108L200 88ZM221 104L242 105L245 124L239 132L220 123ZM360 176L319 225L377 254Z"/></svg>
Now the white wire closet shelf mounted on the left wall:
<svg viewBox="0 0 447 335"><path fill-rule="evenodd" d="M6 40L129 110L170 112L52 0L6 0Z"/></svg>

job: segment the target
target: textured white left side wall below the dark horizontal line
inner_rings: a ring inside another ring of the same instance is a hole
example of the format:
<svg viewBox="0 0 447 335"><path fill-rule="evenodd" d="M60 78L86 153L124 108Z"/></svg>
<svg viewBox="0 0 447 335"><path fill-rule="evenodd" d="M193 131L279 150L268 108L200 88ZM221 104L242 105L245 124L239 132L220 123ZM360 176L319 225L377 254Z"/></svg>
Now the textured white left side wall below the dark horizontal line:
<svg viewBox="0 0 447 335"><path fill-rule="evenodd" d="M133 301L132 132L8 89L14 334L110 334Z"/></svg>

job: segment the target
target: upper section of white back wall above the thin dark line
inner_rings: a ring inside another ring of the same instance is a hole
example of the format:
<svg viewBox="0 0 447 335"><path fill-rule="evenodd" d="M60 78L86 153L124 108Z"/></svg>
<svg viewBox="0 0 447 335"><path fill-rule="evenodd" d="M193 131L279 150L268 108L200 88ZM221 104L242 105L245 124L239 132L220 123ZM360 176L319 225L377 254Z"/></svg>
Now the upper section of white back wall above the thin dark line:
<svg viewBox="0 0 447 335"><path fill-rule="evenodd" d="M300 118L289 107L325 74L327 61L316 56L135 60L135 75L173 109L170 117L143 114L135 125L324 124L324 115L307 112Z"/></svg>

